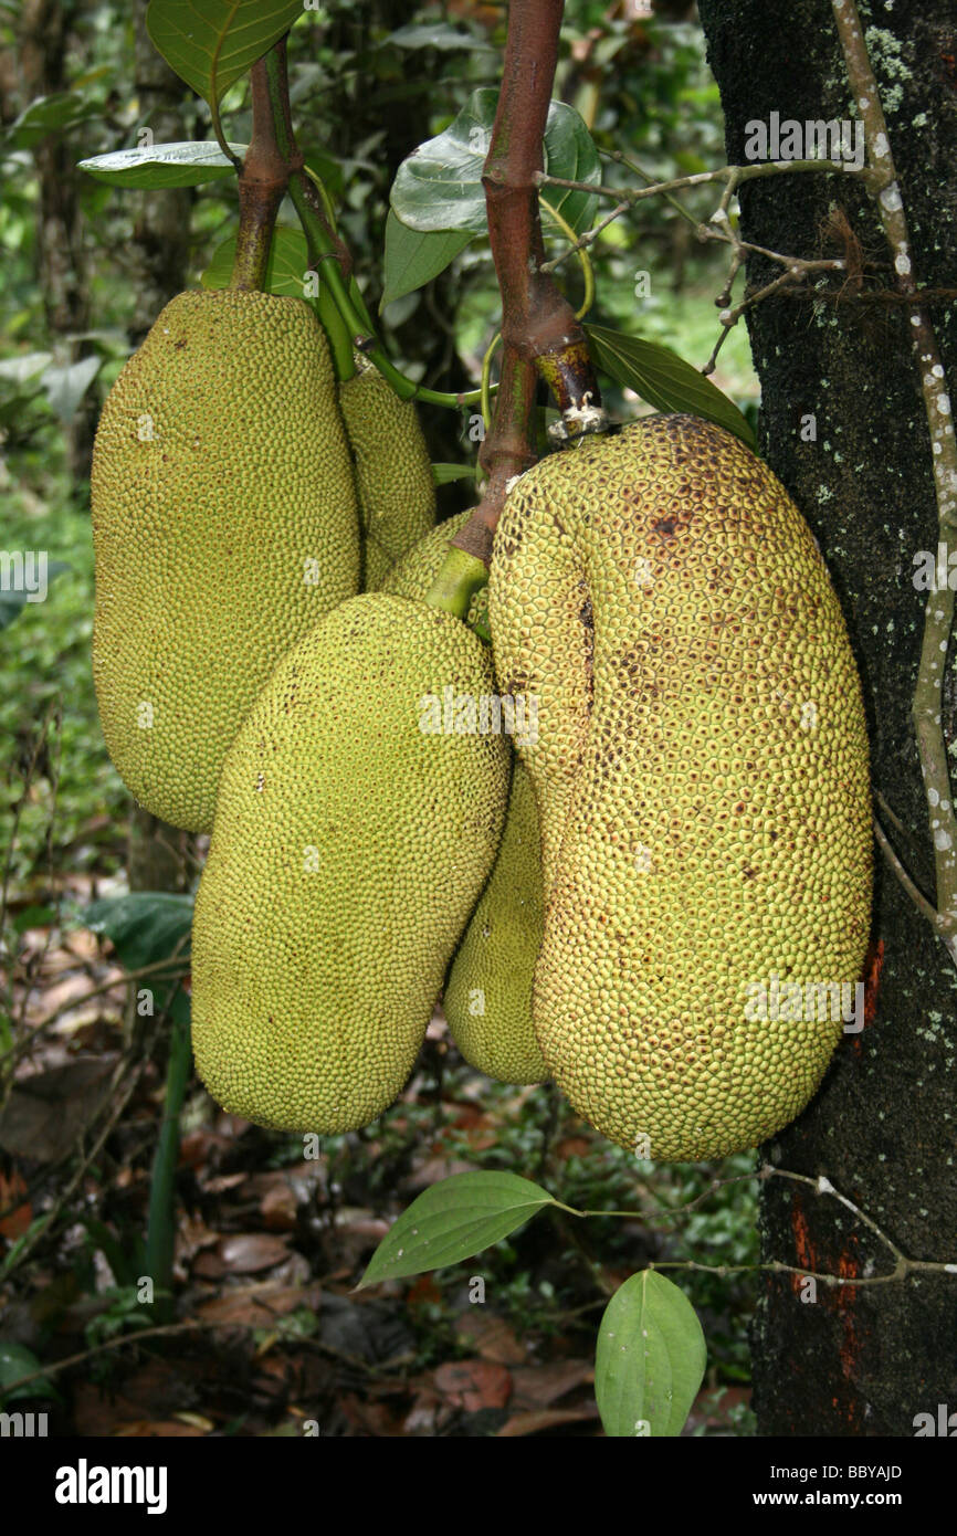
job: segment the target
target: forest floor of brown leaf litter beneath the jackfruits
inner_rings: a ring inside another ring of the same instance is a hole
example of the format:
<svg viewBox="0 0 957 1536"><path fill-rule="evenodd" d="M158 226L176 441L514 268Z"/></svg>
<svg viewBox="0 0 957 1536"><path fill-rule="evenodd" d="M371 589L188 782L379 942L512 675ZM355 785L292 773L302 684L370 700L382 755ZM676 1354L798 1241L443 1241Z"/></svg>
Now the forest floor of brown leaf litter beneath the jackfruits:
<svg viewBox="0 0 957 1536"><path fill-rule="evenodd" d="M598 1435L607 1295L653 1260L754 1261L751 1158L636 1164L553 1089L473 1072L436 1015L402 1100L313 1158L301 1137L226 1115L192 1083L174 1293L144 1304L164 1040L137 1055L123 971L89 929L22 928L18 965L34 1038L0 1118L0 1399L43 1375L0 1405L46 1412L52 1435ZM392 1220L470 1169L634 1218L539 1213L464 1264L356 1292ZM730 1181L708 1195L714 1175ZM670 1275L708 1341L685 1433L750 1433L751 1276Z"/></svg>

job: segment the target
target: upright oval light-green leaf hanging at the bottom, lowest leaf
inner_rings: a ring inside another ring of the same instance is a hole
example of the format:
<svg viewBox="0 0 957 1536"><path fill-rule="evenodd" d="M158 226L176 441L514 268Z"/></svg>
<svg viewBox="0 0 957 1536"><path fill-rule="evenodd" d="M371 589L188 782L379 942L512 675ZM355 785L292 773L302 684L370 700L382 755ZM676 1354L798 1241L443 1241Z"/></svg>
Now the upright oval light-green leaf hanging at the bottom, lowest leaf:
<svg viewBox="0 0 957 1536"><path fill-rule="evenodd" d="M631 1275L611 1296L598 1330L594 1395L605 1433L680 1435L707 1356L684 1290L653 1269Z"/></svg>

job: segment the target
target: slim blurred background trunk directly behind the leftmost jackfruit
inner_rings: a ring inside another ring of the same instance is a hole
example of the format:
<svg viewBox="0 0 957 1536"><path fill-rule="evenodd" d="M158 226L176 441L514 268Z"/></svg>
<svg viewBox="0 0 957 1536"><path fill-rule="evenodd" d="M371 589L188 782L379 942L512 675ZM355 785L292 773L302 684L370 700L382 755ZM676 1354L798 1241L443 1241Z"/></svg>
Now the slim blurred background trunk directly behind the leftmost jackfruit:
<svg viewBox="0 0 957 1536"><path fill-rule="evenodd" d="M138 0L135 60L140 124L151 131L154 143L175 143L189 137L183 124L186 86L149 40L146 6L147 0ZM137 307L127 326L134 347L140 346L164 304L186 287L190 206L189 187L135 194L129 258ZM126 859L131 891L186 891L194 865L195 839L134 803Z"/></svg>

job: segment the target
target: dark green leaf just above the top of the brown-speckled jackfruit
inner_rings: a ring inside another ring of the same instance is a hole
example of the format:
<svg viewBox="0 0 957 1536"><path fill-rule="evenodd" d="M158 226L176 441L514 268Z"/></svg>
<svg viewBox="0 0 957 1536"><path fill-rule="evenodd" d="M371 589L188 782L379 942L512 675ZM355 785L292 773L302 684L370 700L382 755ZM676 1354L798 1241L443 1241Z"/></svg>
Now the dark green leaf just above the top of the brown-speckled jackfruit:
<svg viewBox="0 0 957 1536"><path fill-rule="evenodd" d="M734 401L679 358L677 352L659 341L627 336L622 330L608 330L605 326L585 326L585 332L594 366L633 389L656 410L687 410L693 416L704 416L754 449L754 433Z"/></svg>

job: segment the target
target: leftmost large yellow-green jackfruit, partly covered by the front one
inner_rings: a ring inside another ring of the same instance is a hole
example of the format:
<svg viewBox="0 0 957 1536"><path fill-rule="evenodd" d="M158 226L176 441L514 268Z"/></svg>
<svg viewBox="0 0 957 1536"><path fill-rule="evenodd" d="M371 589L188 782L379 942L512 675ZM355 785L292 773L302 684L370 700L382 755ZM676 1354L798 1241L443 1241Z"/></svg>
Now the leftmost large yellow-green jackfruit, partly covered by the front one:
<svg viewBox="0 0 957 1536"><path fill-rule="evenodd" d="M275 662L359 585L324 332L296 298L180 293L114 384L92 465L94 680L132 794L212 826Z"/></svg>

